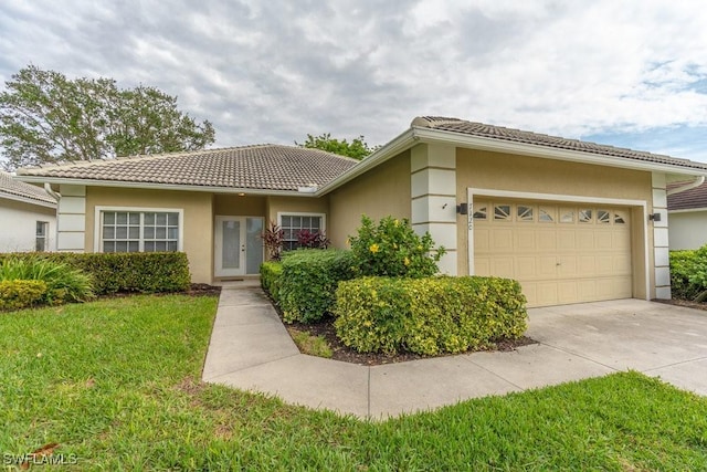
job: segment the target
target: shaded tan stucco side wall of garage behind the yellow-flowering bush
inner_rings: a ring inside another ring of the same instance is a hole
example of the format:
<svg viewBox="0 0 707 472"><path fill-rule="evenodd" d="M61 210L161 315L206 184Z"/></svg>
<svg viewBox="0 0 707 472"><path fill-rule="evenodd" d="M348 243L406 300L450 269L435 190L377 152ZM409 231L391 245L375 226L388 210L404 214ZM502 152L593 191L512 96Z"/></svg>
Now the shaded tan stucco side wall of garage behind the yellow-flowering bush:
<svg viewBox="0 0 707 472"><path fill-rule="evenodd" d="M389 161L329 193L328 237L336 248L346 248L356 234L361 214L376 220L389 214L410 219L410 151Z"/></svg>

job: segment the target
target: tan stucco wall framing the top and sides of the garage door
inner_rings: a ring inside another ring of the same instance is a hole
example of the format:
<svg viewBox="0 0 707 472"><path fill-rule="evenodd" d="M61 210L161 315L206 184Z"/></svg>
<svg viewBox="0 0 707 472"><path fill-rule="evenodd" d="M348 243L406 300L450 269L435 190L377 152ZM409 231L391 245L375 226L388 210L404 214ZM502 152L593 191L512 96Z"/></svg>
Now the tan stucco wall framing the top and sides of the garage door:
<svg viewBox="0 0 707 472"><path fill-rule="evenodd" d="M642 200L652 210L651 172L552 159L514 156L474 149L456 150L457 201L465 202L467 188L484 188L532 193ZM561 198L558 198L561 200ZM645 264L645 225L643 210L632 210L632 248L634 297L645 297L645 273L653 283L653 231L648 231L648 266ZM468 274L467 217L457 218L460 274ZM651 294L653 297L654 294Z"/></svg>

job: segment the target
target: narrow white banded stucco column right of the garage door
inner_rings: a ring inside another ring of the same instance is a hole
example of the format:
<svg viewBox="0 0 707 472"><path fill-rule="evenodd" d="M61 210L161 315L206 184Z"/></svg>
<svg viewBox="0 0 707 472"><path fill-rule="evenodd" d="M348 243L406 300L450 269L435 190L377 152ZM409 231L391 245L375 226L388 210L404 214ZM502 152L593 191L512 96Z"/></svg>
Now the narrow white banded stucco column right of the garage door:
<svg viewBox="0 0 707 472"><path fill-rule="evenodd" d="M671 298L671 260L667 233L667 191L665 174L653 172L653 213L661 216L661 221L653 224L653 265L655 270L655 297Z"/></svg>

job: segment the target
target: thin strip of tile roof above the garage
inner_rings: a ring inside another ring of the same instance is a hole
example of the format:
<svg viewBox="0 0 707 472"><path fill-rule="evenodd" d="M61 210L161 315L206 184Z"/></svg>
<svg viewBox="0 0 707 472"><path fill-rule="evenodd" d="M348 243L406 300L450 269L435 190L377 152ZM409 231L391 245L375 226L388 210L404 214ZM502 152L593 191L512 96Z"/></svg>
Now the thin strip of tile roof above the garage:
<svg viewBox="0 0 707 472"><path fill-rule="evenodd" d="M646 162L667 164L671 166L686 167L690 169L707 170L707 165L688 159L679 159L658 154L644 153L609 145L567 139L557 136L548 136L538 133L523 132L520 129L505 128L503 126L485 125L483 123L466 122L458 118L443 116L421 116L412 120L411 126L440 129L463 135L499 139L505 141L530 144L536 146L553 147L558 149L576 150L580 153L598 154L603 156L622 157Z"/></svg>

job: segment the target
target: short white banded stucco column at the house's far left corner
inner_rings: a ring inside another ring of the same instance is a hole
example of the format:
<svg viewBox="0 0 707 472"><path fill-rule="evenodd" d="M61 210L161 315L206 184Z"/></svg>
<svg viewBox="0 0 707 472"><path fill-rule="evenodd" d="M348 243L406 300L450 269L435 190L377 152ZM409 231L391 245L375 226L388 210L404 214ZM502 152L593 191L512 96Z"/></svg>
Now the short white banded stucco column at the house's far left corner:
<svg viewBox="0 0 707 472"><path fill-rule="evenodd" d="M61 185L56 209L56 251L84 252L86 235L86 187Z"/></svg>

